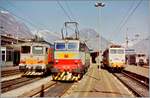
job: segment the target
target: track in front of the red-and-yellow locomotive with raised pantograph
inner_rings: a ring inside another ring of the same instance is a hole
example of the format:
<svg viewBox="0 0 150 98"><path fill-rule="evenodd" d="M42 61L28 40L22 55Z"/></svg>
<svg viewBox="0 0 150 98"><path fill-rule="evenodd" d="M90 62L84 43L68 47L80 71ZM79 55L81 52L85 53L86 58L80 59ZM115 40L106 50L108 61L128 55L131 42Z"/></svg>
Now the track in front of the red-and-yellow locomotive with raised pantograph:
<svg viewBox="0 0 150 98"><path fill-rule="evenodd" d="M73 83L62 83L62 82L48 82L42 85L41 88L27 92L19 97L61 97L67 90L73 85Z"/></svg>

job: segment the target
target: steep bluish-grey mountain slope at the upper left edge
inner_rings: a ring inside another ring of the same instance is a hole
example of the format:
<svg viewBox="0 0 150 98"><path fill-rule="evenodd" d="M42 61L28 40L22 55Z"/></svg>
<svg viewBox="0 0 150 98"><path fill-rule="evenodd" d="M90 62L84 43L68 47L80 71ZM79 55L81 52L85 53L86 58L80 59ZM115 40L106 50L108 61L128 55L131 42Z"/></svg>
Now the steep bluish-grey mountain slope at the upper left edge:
<svg viewBox="0 0 150 98"><path fill-rule="evenodd" d="M29 28L11 15L9 12L0 11L0 27L2 34L9 34L19 38L32 38Z"/></svg>

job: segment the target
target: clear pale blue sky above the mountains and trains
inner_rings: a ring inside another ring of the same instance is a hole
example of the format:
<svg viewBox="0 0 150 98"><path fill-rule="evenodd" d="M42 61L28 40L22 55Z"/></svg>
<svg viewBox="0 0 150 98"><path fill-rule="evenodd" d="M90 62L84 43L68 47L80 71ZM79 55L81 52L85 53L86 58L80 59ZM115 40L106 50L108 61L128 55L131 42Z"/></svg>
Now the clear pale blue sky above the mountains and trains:
<svg viewBox="0 0 150 98"><path fill-rule="evenodd" d="M63 23L69 21L70 16L79 23L79 29L94 29L107 40L119 44L125 42L126 32L129 39L134 39L136 34L140 35L139 40L149 36L150 0L99 1L105 3L105 7L94 7L96 0L0 0L0 10L5 8L25 19L26 21L18 18L33 32L60 32Z"/></svg>

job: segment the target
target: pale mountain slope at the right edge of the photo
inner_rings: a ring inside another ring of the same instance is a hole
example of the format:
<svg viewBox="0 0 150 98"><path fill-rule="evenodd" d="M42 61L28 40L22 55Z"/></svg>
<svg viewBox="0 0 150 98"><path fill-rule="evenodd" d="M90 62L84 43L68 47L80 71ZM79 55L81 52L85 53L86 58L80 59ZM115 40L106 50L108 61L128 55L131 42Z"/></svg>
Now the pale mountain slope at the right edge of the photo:
<svg viewBox="0 0 150 98"><path fill-rule="evenodd" d="M150 56L150 36L148 36L146 39L139 41L131 48L135 49L137 52L143 52Z"/></svg>

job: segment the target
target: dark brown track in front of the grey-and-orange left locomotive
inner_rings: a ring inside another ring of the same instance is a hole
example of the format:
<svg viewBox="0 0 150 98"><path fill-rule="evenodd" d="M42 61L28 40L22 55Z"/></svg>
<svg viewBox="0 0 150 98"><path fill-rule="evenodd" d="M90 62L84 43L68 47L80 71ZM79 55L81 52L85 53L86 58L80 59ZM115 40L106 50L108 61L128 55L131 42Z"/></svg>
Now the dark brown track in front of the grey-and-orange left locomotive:
<svg viewBox="0 0 150 98"><path fill-rule="evenodd" d="M39 79L41 79L41 78L19 77L19 78L16 78L16 79L1 82L1 93L19 88L19 87L24 86L26 84L35 82Z"/></svg>

